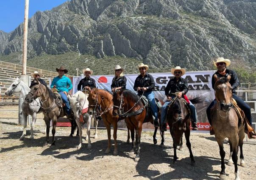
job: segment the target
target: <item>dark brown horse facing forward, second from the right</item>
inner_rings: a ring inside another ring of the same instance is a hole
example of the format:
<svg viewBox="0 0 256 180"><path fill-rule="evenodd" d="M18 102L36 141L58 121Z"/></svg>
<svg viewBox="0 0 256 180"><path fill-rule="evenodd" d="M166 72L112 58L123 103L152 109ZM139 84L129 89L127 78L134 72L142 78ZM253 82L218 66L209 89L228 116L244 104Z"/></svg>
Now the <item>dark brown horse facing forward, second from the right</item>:
<svg viewBox="0 0 256 180"><path fill-rule="evenodd" d="M193 104L196 104L196 101L190 100ZM183 146L182 136L185 134L186 146L189 148L189 156L191 158L191 165L195 166L195 159L191 150L191 143L189 141L190 136L190 120L191 112L189 106L186 104L183 98L173 98L173 102L170 104L170 107L167 111L167 123L170 127L170 133L173 138L173 164L177 161L177 147L181 150ZM162 137L164 136L164 131L161 132ZM164 142L162 141L162 144Z"/></svg>

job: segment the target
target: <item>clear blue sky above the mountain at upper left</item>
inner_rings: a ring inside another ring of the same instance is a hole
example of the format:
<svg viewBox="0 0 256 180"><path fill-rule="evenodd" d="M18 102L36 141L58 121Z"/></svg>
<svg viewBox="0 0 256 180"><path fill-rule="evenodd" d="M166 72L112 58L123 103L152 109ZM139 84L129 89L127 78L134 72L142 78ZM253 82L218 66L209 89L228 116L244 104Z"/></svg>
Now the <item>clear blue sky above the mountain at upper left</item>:
<svg viewBox="0 0 256 180"><path fill-rule="evenodd" d="M29 0L28 17L36 11L51 10L68 0ZM1 0L0 30L9 33L24 22L25 0Z"/></svg>

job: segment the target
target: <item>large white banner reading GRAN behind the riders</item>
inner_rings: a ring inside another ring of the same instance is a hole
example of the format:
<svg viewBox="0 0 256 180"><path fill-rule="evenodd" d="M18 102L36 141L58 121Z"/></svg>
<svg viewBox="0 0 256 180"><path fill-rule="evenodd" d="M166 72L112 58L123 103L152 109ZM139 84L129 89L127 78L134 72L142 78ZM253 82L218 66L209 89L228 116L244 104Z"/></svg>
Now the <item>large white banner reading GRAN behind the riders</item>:
<svg viewBox="0 0 256 180"><path fill-rule="evenodd" d="M209 130L209 123L206 116L206 108L209 106L211 101L214 100L214 90L211 87L211 77L215 73L215 71L193 71L193 72L186 72L183 78L188 81L189 84L189 91L186 94L189 99L195 98L197 96L202 97L205 101L200 104L195 104L198 116L198 129L199 130ZM155 90L153 91L155 97L159 99L161 104L164 104L166 101L166 96L164 94L164 89L167 86L167 83L170 79L174 76L171 73L150 73L156 83ZM126 82L126 89L132 90L136 93L133 89L134 82L136 77L139 74L127 74L125 77L127 78ZM114 75L106 75L106 76L91 76L95 79L96 87L99 89L105 89L111 92L111 84ZM74 76L73 77L73 90L72 93L76 93L78 83L84 76ZM98 127L104 127L103 121L99 121ZM118 122L118 128L126 128L126 124L124 120ZM154 129L151 123L144 123L144 129Z"/></svg>

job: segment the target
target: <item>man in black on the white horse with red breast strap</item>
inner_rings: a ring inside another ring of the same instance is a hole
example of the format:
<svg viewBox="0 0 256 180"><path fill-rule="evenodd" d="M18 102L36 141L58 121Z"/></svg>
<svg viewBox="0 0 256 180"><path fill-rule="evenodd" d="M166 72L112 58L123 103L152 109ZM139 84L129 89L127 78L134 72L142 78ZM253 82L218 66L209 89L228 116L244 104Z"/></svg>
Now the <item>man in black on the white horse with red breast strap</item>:
<svg viewBox="0 0 256 180"><path fill-rule="evenodd" d="M93 71L90 70L90 68L83 69L83 74L85 75L85 78L80 80L80 82L77 86L78 90L81 90L81 86L82 86L82 90L84 90L83 88L85 88L85 90L86 90L86 89L88 89L88 87L90 89L96 88L95 80L90 77L92 75L92 73L93 73Z"/></svg>

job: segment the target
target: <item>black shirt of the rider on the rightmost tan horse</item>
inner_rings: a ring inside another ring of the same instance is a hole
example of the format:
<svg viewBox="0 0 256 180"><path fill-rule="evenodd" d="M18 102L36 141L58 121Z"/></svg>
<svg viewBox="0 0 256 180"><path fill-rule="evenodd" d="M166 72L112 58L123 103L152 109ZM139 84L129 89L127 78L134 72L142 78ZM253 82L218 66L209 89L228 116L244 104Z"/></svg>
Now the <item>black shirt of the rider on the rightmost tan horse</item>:
<svg viewBox="0 0 256 180"><path fill-rule="evenodd" d="M237 78L237 73L235 71L232 71L230 69L226 69L226 74L224 76L221 75L218 71L216 71L214 74L216 74L218 78L221 78L221 77L226 78L228 75L230 75L231 79L230 79L229 83L233 88L232 94L236 94L236 89L239 86L239 80ZM214 89L214 85L215 85L215 80L213 78L214 74L211 77L211 86L212 86L213 89Z"/></svg>

